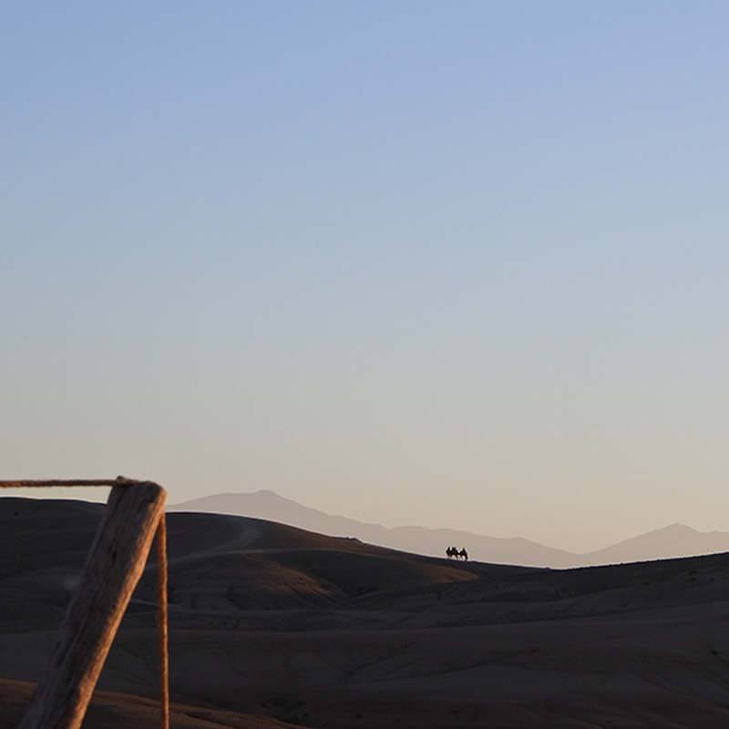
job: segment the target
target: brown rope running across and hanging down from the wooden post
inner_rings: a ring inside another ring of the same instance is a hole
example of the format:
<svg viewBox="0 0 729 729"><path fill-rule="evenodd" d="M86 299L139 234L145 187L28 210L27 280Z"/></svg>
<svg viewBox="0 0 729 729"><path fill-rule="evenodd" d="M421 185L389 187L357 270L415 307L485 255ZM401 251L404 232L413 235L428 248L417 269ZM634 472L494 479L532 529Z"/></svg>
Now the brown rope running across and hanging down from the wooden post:
<svg viewBox="0 0 729 729"><path fill-rule="evenodd" d="M49 478L46 480L0 481L0 488L47 488L53 486L134 486L133 478ZM165 514L157 525L157 559L159 562L159 711L161 729L169 729L169 634L167 610L167 525Z"/></svg>

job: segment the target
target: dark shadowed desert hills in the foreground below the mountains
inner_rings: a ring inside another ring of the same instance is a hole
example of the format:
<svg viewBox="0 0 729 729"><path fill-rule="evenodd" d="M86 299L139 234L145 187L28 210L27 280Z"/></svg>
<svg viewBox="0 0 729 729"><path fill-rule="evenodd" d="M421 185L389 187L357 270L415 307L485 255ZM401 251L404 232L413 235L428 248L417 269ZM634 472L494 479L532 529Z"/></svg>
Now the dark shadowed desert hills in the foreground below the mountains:
<svg viewBox="0 0 729 729"><path fill-rule="evenodd" d="M0 729L15 726L103 507L0 498ZM417 557L170 514L172 727L729 723L729 555L580 570ZM444 545L444 549L447 545ZM85 727L159 725L150 563Z"/></svg>

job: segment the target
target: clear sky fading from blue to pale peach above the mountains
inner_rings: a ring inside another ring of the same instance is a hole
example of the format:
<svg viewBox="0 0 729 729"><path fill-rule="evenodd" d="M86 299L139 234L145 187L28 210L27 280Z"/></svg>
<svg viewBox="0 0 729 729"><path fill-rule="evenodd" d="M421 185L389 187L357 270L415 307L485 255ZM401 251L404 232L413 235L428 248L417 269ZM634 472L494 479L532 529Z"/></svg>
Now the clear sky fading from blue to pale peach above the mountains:
<svg viewBox="0 0 729 729"><path fill-rule="evenodd" d="M727 31L3 4L0 477L576 551L729 531Z"/></svg>

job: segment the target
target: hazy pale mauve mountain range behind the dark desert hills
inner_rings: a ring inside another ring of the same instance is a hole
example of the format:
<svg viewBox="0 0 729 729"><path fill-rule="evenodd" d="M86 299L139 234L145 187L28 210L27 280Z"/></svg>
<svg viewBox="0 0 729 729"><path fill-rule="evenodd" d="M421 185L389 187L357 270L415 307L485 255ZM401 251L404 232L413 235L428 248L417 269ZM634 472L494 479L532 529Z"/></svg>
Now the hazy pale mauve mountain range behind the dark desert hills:
<svg viewBox="0 0 729 729"><path fill-rule="evenodd" d="M729 551L729 532L701 532L683 524L656 529L605 549L576 554L529 539L499 539L457 529L394 527L332 516L283 498L273 491L216 494L168 507L169 511L201 511L267 519L333 537L355 537L369 544L415 554L444 557L449 545L466 547L472 560L533 567L570 568L619 562L662 560Z"/></svg>

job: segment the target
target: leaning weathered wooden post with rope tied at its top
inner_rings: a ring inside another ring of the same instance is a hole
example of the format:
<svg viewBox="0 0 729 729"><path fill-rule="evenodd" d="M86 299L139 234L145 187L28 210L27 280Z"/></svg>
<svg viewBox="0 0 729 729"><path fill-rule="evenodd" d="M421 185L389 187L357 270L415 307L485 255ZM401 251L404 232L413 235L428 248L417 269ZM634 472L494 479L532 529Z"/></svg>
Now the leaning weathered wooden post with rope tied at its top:
<svg viewBox="0 0 729 729"><path fill-rule="evenodd" d="M147 562L167 492L114 485L56 645L19 729L78 729Z"/></svg>

